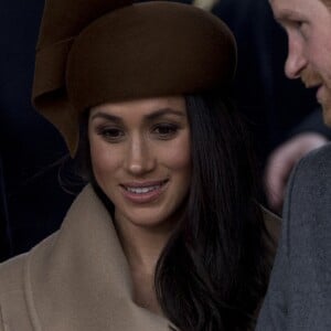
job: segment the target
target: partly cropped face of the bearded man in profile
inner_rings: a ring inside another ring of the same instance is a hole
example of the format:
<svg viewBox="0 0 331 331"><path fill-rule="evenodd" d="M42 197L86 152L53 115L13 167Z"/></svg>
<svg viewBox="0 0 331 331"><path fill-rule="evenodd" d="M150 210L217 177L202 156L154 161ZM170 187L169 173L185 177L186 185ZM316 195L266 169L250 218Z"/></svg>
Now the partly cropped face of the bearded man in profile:
<svg viewBox="0 0 331 331"><path fill-rule="evenodd" d="M288 35L285 73L317 88L324 121L331 125L331 10L321 0L269 0Z"/></svg>

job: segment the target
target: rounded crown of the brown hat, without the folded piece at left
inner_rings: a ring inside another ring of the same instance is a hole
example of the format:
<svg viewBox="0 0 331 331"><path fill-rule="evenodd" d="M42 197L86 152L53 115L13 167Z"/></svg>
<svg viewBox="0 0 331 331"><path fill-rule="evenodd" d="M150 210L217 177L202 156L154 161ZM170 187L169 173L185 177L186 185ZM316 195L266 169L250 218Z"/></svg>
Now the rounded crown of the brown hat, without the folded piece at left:
<svg viewBox="0 0 331 331"><path fill-rule="evenodd" d="M209 12L182 3L149 1L113 11L76 39L66 88L84 110L102 103L193 94L228 86L235 41Z"/></svg>

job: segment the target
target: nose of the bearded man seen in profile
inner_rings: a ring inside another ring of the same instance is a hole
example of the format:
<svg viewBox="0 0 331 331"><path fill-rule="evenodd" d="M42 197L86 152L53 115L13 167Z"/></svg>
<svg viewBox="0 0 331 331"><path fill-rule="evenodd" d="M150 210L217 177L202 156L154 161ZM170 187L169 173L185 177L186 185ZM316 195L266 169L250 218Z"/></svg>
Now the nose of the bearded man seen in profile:
<svg viewBox="0 0 331 331"><path fill-rule="evenodd" d="M308 61L303 54L302 44L296 39L289 38L288 55L285 63L285 74L290 79L300 77L302 70L307 66Z"/></svg>

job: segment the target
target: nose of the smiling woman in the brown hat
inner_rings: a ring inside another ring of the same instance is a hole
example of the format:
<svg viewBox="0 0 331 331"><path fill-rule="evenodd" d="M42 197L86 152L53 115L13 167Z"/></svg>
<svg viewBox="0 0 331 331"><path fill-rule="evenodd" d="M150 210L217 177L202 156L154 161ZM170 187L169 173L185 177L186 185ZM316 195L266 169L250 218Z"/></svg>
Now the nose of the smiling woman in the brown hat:
<svg viewBox="0 0 331 331"><path fill-rule="evenodd" d="M152 171L156 167L156 157L148 141L141 137L131 139L127 156L127 171L134 175L141 175Z"/></svg>

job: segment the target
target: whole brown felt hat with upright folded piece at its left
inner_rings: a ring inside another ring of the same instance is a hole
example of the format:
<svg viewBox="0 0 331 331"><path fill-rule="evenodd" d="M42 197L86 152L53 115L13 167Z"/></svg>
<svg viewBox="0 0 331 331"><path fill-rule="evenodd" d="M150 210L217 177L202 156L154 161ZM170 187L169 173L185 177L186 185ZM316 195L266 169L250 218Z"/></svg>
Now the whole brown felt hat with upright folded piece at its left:
<svg viewBox="0 0 331 331"><path fill-rule="evenodd" d="M227 26L193 6L49 0L32 98L74 156L83 110L107 102L222 89L235 66Z"/></svg>

